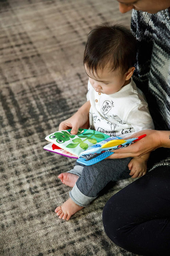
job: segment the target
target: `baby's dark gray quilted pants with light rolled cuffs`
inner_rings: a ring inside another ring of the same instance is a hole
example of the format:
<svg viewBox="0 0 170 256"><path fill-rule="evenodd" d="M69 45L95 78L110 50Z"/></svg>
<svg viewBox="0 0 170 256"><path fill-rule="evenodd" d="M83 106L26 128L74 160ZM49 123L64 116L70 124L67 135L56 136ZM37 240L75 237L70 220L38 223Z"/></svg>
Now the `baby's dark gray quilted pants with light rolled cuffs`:
<svg viewBox="0 0 170 256"><path fill-rule="evenodd" d="M131 159L104 159L90 166L76 162L74 168L68 171L79 176L69 193L71 199L79 206L88 206L108 182L131 177L127 166Z"/></svg>

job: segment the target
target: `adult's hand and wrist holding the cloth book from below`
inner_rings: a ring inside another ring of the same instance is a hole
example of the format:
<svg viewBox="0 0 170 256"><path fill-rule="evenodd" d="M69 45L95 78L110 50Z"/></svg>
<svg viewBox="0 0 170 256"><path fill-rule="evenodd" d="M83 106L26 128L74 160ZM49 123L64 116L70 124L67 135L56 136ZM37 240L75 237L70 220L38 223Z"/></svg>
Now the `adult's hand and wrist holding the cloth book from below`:
<svg viewBox="0 0 170 256"><path fill-rule="evenodd" d="M128 147L113 150L115 154L110 155L108 158L139 158L142 155L149 153L150 151L153 151L158 147L170 148L170 131L143 130L134 133L126 139L137 138L142 134L146 134L147 136L131 144Z"/></svg>

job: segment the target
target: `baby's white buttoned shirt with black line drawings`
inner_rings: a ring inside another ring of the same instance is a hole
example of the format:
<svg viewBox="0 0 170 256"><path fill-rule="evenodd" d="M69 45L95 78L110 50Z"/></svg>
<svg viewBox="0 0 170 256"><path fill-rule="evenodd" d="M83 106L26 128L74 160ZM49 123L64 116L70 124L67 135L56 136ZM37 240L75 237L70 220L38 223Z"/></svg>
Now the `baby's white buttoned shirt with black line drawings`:
<svg viewBox="0 0 170 256"><path fill-rule="evenodd" d="M110 95L96 92L88 81L87 100L91 103L90 129L122 138L127 133L154 129L147 102L132 78L129 84Z"/></svg>

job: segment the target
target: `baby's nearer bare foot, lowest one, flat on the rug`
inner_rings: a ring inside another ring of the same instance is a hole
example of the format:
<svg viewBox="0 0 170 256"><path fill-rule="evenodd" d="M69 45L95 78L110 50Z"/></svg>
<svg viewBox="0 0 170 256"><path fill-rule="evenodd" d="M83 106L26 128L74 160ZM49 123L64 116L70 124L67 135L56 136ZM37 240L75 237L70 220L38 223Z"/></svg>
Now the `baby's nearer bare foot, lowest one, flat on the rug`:
<svg viewBox="0 0 170 256"><path fill-rule="evenodd" d="M84 207L79 206L71 198L69 198L65 203L62 204L62 206L58 206L55 209L55 212L60 219L63 218L66 219L66 221L68 221L73 214L75 214L76 212L83 208Z"/></svg>

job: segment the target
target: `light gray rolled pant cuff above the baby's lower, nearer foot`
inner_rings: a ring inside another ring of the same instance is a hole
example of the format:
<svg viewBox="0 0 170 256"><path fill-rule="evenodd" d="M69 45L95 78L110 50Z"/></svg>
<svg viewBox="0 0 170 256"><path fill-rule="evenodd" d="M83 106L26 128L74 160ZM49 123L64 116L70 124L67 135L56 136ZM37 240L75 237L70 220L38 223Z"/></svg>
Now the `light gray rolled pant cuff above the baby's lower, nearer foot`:
<svg viewBox="0 0 170 256"><path fill-rule="evenodd" d="M77 184L74 185L72 190L69 193L70 198L79 206L87 207L96 197L85 196L77 187Z"/></svg>

